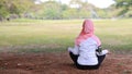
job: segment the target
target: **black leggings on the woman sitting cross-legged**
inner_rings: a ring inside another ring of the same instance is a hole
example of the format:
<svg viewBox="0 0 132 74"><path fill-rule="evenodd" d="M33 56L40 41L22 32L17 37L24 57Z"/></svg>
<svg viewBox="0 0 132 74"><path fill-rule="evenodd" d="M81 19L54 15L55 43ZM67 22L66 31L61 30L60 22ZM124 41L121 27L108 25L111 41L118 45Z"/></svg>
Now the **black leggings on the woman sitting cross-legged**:
<svg viewBox="0 0 132 74"><path fill-rule="evenodd" d="M77 66L77 69L80 69L80 70L97 70L97 69L99 69L100 64L102 63L102 61L106 58L106 54L97 55L98 62L99 62L97 65L80 65L77 63L78 55L73 54L73 52L69 52L69 55L70 55L72 60L74 61L75 65Z"/></svg>

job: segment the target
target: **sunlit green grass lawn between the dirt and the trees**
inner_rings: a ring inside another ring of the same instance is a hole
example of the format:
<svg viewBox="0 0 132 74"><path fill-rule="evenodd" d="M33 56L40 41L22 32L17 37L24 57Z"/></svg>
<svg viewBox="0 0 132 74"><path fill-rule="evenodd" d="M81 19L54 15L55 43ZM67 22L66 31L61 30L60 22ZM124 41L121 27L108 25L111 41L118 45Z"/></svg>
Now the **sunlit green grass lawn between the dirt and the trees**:
<svg viewBox="0 0 132 74"><path fill-rule="evenodd" d="M112 51L132 51L130 20L100 20L95 22L95 34L102 47ZM58 52L74 46L82 20L14 20L0 23L0 51Z"/></svg>

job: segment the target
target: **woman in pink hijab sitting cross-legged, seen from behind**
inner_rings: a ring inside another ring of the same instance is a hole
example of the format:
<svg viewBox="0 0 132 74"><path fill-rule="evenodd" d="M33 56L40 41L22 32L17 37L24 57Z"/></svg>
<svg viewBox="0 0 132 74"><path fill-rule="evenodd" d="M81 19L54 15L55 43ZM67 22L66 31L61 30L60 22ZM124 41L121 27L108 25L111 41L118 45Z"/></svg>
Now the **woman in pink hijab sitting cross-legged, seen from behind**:
<svg viewBox="0 0 132 74"><path fill-rule="evenodd" d="M101 41L94 30L94 23L90 20L85 20L82 29L75 39L75 47L68 48L69 55L77 69L99 69L108 53L108 50L100 50Z"/></svg>

